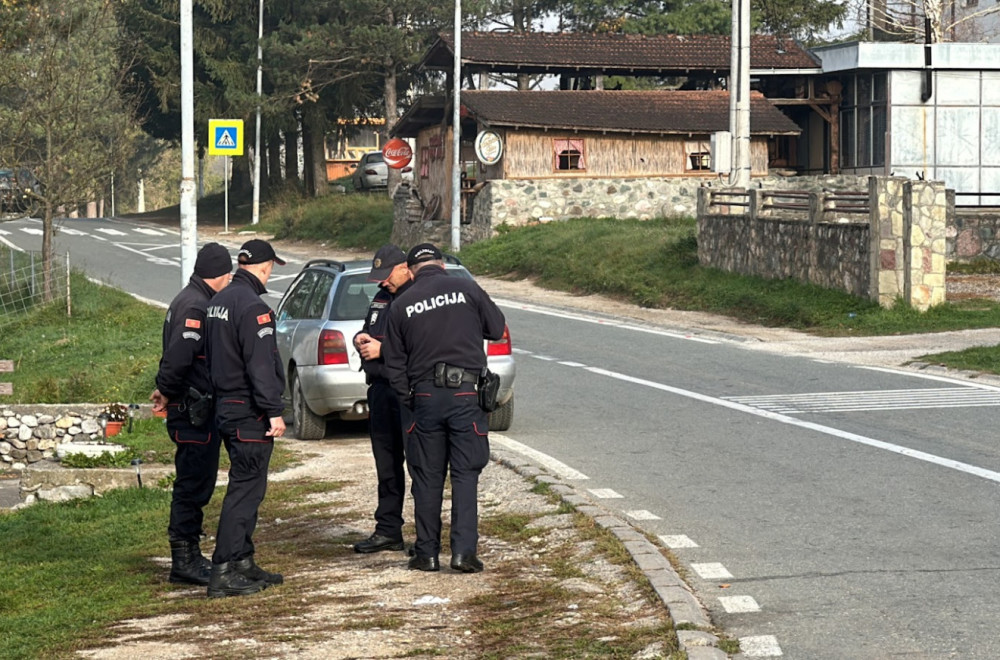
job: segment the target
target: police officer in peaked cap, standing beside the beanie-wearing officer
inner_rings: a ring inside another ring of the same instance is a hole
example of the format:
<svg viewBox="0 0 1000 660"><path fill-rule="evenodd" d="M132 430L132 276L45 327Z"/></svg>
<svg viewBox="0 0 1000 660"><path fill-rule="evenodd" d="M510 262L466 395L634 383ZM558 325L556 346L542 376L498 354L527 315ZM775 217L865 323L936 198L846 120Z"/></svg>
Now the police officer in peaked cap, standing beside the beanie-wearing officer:
<svg viewBox="0 0 1000 660"><path fill-rule="evenodd" d="M230 462L208 583L211 598L251 594L283 581L254 562L252 537L274 438L285 432L285 375L274 312L261 299L274 264L285 262L258 239L244 243L236 259L232 284L209 303L206 315L215 417Z"/></svg>

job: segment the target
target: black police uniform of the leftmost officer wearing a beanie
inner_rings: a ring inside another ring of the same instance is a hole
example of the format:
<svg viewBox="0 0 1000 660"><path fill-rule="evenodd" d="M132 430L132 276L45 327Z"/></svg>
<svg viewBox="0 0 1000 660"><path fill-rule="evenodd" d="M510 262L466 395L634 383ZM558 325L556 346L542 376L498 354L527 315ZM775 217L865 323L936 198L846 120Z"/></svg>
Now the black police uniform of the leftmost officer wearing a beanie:
<svg viewBox="0 0 1000 660"><path fill-rule="evenodd" d="M163 357L156 387L167 403L167 432L177 447L176 478L167 534L171 541L197 543L202 509L212 499L219 471L219 433L213 415L201 427L188 417L188 389L212 391L205 360L205 308L215 295L205 280L192 275L170 303L163 322Z"/></svg>

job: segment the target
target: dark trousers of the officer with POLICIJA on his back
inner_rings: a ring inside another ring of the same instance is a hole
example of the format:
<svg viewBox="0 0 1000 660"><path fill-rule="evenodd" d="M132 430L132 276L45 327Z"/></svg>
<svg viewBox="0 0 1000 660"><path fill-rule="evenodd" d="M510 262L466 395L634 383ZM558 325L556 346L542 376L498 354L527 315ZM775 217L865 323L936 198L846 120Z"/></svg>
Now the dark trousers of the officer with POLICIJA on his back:
<svg viewBox="0 0 1000 660"><path fill-rule="evenodd" d="M431 381L414 388L413 423L406 438L406 462L413 480L417 555L441 551L441 502L451 470L451 553L476 554L479 545L479 473L490 460L487 415L473 383L456 389Z"/></svg>

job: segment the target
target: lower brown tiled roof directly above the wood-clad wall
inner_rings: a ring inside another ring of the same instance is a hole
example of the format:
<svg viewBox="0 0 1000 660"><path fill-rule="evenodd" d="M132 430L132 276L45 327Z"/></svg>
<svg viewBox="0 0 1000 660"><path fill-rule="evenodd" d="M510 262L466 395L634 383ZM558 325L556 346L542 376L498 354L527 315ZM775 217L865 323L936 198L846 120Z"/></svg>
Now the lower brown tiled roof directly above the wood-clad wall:
<svg viewBox="0 0 1000 660"><path fill-rule="evenodd" d="M729 93L718 91L463 91L462 105L491 126L616 133L729 130ZM754 92L750 132L797 135L801 129Z"/></svg>

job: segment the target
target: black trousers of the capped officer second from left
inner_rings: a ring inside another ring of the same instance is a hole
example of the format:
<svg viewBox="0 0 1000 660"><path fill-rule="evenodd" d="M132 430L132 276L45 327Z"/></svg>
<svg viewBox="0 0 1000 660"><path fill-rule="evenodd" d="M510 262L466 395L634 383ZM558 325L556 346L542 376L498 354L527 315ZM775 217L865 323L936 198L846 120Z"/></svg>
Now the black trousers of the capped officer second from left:
<svg viewBox="0 0 1000 660"><path fill-rule="evenodd" d="M257 510L267 492L267 467L274 441L265 435L271 420L246 402L221 400L216 421L230 465L212 563L224 564L254 554L253 532Z"/></svg>

